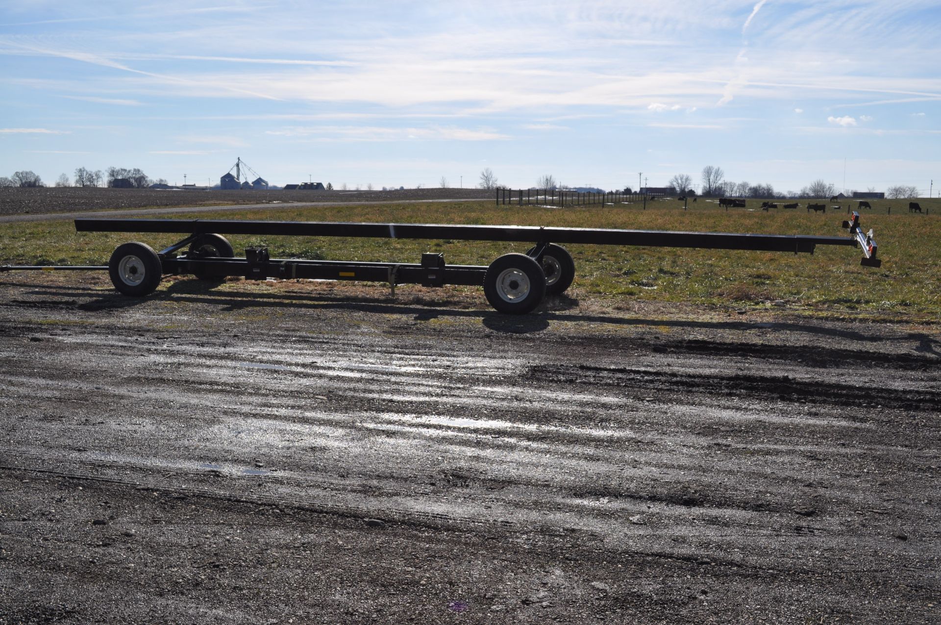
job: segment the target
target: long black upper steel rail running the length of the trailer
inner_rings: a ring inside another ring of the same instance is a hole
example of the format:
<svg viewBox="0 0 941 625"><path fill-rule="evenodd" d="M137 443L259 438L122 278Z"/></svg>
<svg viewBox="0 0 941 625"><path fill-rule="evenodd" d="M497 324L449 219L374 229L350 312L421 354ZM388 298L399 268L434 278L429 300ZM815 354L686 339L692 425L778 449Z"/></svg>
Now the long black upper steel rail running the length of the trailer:
<svg viewBox="0 0 941 625"><path fill-rule="evenodd" d="M856 217L858 224L858 216ZM184 234L267 234L349 236L388 239L451 239L666 248L745 249L813 253L819 245L855 246L856 237L805 234L742 234L470 226L454 224L345 223L332 221L235 221L227 219L75 219L78 232L177 232ZM851 231L852 232L852 231Z"/></svg>

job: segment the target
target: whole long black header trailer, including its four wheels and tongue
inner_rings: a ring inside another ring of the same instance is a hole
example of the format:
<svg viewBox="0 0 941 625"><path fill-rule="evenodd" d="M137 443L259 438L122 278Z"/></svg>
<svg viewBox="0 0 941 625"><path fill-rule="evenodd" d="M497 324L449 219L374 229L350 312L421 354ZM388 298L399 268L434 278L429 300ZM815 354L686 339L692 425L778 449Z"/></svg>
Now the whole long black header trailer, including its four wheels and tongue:
<svg viewBox="0 0 941 625"><path fill-rule="evenodd" d="M464 226L450 224L342 223L326 221L235 221L184 219L76 219L78 232L175 232L186 234L168 248L154 251L143 243L115 249L106 267L4 266L0 270L107 269L115 287L129 296L146 296L164 274L195 274L213 280L249 279L366 280L395 284L483 285L500 312L531 312L546 295L563 293L575 277L575 263L559 244L667 248L746 249L813 253L819 245L863 248L862 264L879 266L872 231L864 234L859 214L843 228L850 236L743 234L553 228L539 226ZM444 255L425 253L420 264L360 263L270 258L267 248L247 248L236 258L222 234L345 236L390 239L450 239L534 244L525 254L504 254L489 266L445 264ZM186 248L183 253L177 253Z"/></svg>

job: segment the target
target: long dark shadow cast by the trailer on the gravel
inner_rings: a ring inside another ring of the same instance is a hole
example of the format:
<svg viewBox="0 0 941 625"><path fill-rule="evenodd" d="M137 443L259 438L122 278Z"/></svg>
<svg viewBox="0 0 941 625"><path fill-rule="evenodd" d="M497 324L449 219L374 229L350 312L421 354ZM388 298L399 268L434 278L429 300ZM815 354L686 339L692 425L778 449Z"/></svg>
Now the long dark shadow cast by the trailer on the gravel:
<svg viewBox="0 0 941 625"><path fill-rule="evenodd" d="M675 329L710 329L734 331L760 331L795 332L806 335L818 335L829 338L844 339L850 342L878 344L885 342L908 341L916 345L913 349L919 353L941 358L941 340L922 332L908 332L895 336L880 334L867 334L857 329L847 327L839 328L833 324L824 324L814 320L802 321L696 321L693 319L663 319L650 317L619 317L598 313L582 313L578 311L579 302L566 296L553 297L552 300L540 306L535 312L525 315L506 315L500 312L480 309L454 308L453 300L442 299L440 306L435 301L422 299L421 303L403 303L390 296L328 296L328 295L298 295L285 293L237 293L214 292L204 283L186 283L181 280L170 284L166 289L146 297L122 296L118 293L104 294L99 289L80 286L37 285L36 290L27 291L29 296L49 297L75 297L81 294L94 296L86 301L72 304L75 308L88 311L118 311L134 308L148 302L186 302L209 306L218 306L222 311L237 312L252 309L278 309L298 308L306 310L338 310L357 312L376 312L384 314L410 315L414 321L432 321L440 318L478 318L487 328L495 332L506 334L526 334L543 331L550 327L550 323L567 322L576 324L610 324L615 326L637 326L650 328ZM0 282L0 285L6 284ZM27 286L23 282L11 282L9 286ZM24 305L26 302L20 302Z"/></svg>

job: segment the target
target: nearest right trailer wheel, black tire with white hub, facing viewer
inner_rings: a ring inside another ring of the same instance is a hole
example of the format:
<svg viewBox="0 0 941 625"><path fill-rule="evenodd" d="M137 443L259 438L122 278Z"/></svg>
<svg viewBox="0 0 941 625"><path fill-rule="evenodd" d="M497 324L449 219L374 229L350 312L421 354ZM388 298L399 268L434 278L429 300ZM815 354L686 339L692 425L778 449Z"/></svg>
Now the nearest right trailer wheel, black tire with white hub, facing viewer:
<svg viewBox="0 0 941 625"><path fill-rule="evenodd" d="M503 254L486 269L484 295L499 312L532 312L546 295L546 274L526 254Z"/></svg>

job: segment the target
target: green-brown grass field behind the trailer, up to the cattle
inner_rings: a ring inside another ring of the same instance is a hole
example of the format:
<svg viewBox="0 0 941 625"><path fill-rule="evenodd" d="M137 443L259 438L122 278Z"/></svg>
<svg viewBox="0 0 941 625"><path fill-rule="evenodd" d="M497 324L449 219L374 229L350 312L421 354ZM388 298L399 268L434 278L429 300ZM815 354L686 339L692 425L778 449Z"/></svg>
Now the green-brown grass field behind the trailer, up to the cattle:
<svg viewBox="0 0 941 625"><path fill-rule="evenodd" d="M577 277L570 295L611 308L634 299L717 305L736 309L787 308L810 315L878 321L934 322L941 318L941 200L919 200L929 215L909 214L888 200L865 211L862 225L875 230L880 268L860 266L858 248L818 247L814 255L678 248L569 246ZM758 206L760 202L749 201ZM803 203L803 202L802 202ZM845 214L732 209L700 201L684 211L679 202L542 208L491 202L358 205L245 211L199 218L325 221L396 221L630 228L697 232L845 235ZM192 218L186 216L185 218ZM71 221L8 224L0 228L0 264L105 264L120 243L140 240L166 247L175 235L74 232ZM356 238L232 236L236 253L264 244L272 257L416 263L423 251L443 251L448 263L489 264L525 244L407 241ZM224 287L223 287L224 288ZM376 288L383 288L377 286ZM451 287L459 288L459 287ZM483 301L483 297L481 297Z"/></svg>

